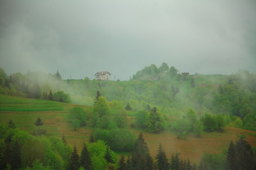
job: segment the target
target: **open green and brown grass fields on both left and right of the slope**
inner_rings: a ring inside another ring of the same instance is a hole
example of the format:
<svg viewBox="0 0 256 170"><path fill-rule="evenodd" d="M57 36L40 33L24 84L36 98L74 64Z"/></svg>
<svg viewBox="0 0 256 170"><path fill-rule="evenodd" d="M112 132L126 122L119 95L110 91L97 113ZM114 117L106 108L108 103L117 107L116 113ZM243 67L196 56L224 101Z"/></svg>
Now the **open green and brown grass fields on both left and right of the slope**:
<svg viewBox="0 0 256 170"><path fill-rule="evenodd" d="M77 131L73 130L67 119L67 114L69 109L74 106L82 107L86 112L92 110L88 106L0 95L0 124L8 124L11 119L17 128L33 133L37 129L34 122L37 117L40 117L44 122L40 129L47 130L46 136L61 137L64 134L68 143L72 146L76 145L78 150L81 150L83 143L88 141L92 128L88 123L87 126L79 128ZM111 113L116 111L118 110L112 110ZM135 111L127 111L130 123L135 121L134 115L136 113ZM172 124L175 120L175 117L168 117L167 124ZM204 152L217 154L223 149L227 149L230 141L236 141L239 135L245 134L246 140L256 147L256 132L237 128L225 128L222 133L204 132L201 138L188 134L186 140L177 139L176 133L170 128L166 128L159 134L151 134L136 127L130 128L130 130L135 134L143 133L153 157L157 154L159 143L162 143L168 158L171 157L171 154L178 152L181 158L189 158L191 162L195 163L199 163Z"/></svg>

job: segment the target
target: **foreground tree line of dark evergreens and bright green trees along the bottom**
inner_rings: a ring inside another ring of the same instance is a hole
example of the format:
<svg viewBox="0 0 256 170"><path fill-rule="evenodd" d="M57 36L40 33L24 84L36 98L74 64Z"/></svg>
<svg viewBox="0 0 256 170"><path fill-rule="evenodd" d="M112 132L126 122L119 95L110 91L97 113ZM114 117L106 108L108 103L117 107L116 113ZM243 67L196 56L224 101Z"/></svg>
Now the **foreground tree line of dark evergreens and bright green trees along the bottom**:
<svg viewBox="0 0 256 170"><path fill-rule="evenodd" d="M63 135L46 138L33 137L16 129L9 121L0 125L0 169L9 170L254 170L255 152L242 137L221 154L204 153L199 165L181 159L173 153L166 157L164 146L159 144L157 155L152 157L142 133L137 136L130 155L118 156L108 144L91 135L81 152L66 143Z"/></svg>

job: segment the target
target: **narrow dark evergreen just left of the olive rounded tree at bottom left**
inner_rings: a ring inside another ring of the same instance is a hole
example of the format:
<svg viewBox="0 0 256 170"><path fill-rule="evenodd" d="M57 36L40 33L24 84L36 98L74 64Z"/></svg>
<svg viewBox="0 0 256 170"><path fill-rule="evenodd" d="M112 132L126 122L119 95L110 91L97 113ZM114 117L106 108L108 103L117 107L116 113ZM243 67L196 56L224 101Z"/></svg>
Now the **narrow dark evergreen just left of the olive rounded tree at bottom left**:
<svg viewBox="0 0 256 170"><path fill-rule="evenodd" d="M21 146L18 139L15 139L13 148L11 150L11 167L14 170L21 168Z"/></svg>

